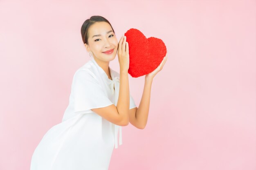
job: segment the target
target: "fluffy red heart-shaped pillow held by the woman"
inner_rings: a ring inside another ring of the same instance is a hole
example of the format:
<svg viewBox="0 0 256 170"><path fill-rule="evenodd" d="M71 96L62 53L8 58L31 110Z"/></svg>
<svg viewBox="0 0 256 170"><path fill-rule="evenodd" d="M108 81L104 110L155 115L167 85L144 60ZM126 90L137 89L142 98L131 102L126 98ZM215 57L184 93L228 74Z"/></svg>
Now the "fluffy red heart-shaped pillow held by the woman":
<svg viewBox="0 0 256 170"><path fill-rule="evenodd" d="M124 35L129 46L128 73L140 77L154 71L166 55L164 42L155 37L146 38L137 29L129 29Z"/></svg>

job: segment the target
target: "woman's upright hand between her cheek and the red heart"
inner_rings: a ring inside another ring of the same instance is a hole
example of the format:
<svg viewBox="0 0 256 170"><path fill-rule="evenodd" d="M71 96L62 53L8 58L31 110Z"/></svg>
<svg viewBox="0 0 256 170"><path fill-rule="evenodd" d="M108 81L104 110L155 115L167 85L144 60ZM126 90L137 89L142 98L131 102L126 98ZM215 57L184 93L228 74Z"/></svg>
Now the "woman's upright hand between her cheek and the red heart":
<svg viewBox="0 0 256 170"><path fill-rule="evenodd" d="M121 72L128 72L129 69L129 46L128 42L126 42L126 36L122 36L117 49L118 61L120 65L120 73Z"/></svg>

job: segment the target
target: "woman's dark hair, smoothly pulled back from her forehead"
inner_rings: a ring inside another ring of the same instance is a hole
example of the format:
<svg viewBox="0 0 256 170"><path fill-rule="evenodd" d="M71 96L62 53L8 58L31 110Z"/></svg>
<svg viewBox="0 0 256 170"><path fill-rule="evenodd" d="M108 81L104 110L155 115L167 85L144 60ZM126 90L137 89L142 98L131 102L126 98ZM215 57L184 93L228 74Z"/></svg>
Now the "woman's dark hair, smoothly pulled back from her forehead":
<svg viewBox="0 0 256 170"><path fill-rule="evenodd" d="M108 20L106 18L99 16L99 15L91 16L90 19L85 20L85 22L83 22L83 25L81 27L81 35L82 35L83 44L85 44L85 43L88 44L88 29L95 22L107 22L108 24L110 24L110 22L108 22ZM111 24L110 24L110 26L112 28ZM113 28L112 28L112 30L115 33Z"/></svg>

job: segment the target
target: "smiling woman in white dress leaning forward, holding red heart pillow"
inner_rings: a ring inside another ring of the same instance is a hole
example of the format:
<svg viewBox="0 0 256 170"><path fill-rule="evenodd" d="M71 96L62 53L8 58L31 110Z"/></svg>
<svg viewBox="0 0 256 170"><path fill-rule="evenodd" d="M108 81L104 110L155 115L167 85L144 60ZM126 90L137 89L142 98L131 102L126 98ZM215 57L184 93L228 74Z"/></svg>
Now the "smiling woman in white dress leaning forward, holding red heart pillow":
<svg viewBox="0 0 256 170"><path fill-rule="evenodd" d="M30 170L108 170L113 148L122 144L121 126L129 122L144 129L148 119L153 77L161 64L145 76L139 107L129 92L129 48L126 37L117 42L111 24L92 16L81 27L82 40L92 60L75 73L62 122L43 136L34 150ZM109 62L118 55L120 72Z"/></svg>

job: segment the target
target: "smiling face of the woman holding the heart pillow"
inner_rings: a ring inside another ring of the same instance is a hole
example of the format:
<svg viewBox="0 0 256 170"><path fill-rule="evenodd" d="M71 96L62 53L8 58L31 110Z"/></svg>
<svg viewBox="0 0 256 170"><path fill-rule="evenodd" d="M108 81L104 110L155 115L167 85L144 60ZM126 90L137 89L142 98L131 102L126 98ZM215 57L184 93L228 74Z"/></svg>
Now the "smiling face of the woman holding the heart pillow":
<svg viewBox="0 0 256 170"><path fill-rule="evenodd" d="M97 36L94 36L97 35ZM110 24L107 22L95 22L88 30L88 44L85 44L88 52L92 51L94 57L109 62L115 59L118 49L118 41ZM103 53L114 49L111 54Z"/></svg>

